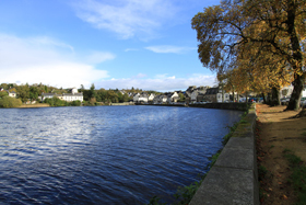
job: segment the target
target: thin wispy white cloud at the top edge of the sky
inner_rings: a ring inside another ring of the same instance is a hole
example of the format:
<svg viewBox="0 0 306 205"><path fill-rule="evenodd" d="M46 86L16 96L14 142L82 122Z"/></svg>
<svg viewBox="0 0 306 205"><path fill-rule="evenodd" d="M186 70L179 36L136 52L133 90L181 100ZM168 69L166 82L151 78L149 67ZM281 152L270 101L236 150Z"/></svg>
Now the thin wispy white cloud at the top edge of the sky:
<svg viewBox="0 0 306 205"><path fill-rule="evenodd" d="M73 5L81 20L96 29L115 32L121 38L153 35L177 13L170 0L79 0Z"/></svg>

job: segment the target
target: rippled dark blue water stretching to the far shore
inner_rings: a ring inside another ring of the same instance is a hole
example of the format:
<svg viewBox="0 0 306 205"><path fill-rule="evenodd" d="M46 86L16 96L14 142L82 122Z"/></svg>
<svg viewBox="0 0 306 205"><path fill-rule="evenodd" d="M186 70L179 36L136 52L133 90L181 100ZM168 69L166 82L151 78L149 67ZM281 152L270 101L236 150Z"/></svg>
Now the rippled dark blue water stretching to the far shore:
<svg viewBox="0 0 306 205"><path fill-rule="evenodd" d="M0 110L0 204L145 204L199 180L242 112Z"/></svg>

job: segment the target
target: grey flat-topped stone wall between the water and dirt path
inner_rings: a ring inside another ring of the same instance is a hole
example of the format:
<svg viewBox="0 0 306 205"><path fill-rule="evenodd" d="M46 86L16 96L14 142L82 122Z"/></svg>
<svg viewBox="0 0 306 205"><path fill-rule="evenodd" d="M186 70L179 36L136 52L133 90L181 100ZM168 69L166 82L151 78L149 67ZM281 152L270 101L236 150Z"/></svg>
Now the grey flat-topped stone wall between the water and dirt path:
<svg viewBox="0 0 306 205"><path fill-rule="evenodd" d="M259 204L255 125L256 113L251 111L223 148L189 205Z"/></svg>

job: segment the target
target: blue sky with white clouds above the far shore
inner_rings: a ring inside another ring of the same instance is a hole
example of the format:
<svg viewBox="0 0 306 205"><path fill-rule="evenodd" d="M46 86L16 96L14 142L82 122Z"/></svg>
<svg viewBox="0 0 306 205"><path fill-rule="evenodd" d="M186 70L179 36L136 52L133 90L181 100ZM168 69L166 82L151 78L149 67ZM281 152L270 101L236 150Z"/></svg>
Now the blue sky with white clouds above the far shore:
<svg viewBox="0 0 306 205"><path fill-rule="evenodd" d="M0 83L174 91L213 86L191 19L219 0L4 0Z"/></svg>

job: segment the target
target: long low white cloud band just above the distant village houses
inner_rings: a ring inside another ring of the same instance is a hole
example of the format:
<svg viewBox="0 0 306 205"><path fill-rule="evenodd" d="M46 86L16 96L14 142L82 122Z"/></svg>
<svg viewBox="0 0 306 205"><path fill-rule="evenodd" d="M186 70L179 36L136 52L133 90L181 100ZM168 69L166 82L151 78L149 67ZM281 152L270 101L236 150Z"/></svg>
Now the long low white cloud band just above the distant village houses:
<svg viewBox="0 0 306 205"><path fill-rule="evenodd" d="M202 73L195 73L187 78L167 77L167 75L158 75L160 78L151 79L111 79L96 81L96 88L105 89L130 89L139 88L143 90L156 90L156 91L174 91L186 90L189 86L210 86L215 82L215 76L208 76Z"/></svg>

